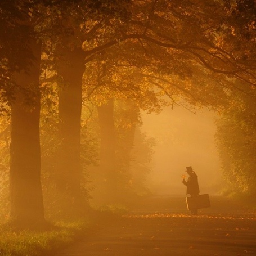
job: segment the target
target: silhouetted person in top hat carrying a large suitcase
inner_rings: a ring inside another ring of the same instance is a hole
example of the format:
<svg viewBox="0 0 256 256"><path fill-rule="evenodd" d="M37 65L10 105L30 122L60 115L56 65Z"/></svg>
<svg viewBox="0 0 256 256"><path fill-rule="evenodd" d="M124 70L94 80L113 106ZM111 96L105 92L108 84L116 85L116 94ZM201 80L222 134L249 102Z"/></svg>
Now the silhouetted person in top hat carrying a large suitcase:
<svg viewBox="0 0 256 256"><path fill-rule="evenodd" d="M186 172L188 174L188 179L185 181L185 178L183 178L182 183L187 186L187 195L190 195L191 197L195 197L199 195L199 185L198 185L198 178L194 170L192 170L192 167L186 167ZM191 210L192 215L197 214L197 209Z"/></svg>

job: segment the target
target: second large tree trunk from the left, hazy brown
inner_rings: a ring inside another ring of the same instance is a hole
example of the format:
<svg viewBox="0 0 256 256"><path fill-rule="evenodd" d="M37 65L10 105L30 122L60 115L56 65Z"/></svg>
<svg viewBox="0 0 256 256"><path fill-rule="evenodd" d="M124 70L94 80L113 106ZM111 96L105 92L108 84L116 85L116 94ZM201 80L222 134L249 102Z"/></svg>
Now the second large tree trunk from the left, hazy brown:
<svg viewBox="0 0 256 256"><path fill-rule="evenodd" d="M59 87L59 137L56 185L59 192L73 200L73 210L81 208L80 128L82 109L82 77L85 53L80 48L62 50L59 74L64 86ZM70 202L69 202L70 203ZM66 205L71 210L70 205ZM77 206L77 207L76 207Z"/></svg>

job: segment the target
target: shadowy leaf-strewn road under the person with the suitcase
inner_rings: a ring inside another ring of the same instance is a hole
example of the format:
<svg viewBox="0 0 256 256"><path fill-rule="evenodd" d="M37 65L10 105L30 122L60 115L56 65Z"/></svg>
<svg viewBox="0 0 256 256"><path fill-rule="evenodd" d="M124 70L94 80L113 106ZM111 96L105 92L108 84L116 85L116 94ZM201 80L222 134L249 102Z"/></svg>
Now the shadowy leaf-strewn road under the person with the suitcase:
<svg viewBox="0 0 256 256"><path fill-rule="evenodd" d="M91 233L54 255L256 255L255 210L224 197L210 201L196 216L182 197L137 201L127 214L97 218Z"/></svg>

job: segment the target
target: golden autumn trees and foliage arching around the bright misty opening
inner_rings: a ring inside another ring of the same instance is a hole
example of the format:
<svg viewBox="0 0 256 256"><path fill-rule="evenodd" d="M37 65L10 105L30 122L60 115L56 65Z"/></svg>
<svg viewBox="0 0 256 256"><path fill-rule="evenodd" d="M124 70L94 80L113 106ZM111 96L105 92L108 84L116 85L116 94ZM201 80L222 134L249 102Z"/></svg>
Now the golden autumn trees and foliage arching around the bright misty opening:
<svg viewBox="0 0 256 256"><path fill-rule="evenodd" d="M163 107L215 111L226 193L255 198L255 1L2 0L0 12L11 221L149 194L141 111Z"/></svg>

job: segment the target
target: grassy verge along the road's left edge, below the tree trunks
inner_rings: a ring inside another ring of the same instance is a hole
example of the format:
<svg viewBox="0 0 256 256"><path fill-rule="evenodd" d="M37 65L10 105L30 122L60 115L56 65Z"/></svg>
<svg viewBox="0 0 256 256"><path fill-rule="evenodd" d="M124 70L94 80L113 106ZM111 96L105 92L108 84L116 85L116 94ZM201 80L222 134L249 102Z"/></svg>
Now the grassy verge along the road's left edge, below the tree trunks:
<svg viewBox="0 0 256 256"><path fill-rule="evenodd" d="M71 244L78 237L89 235L95 223L106 223L126 212L123 206L108 205L93 209L83 219L53 221L43 231L22 230L10 226L0 214L0 256L54 256L56 251Z"/></svg>

